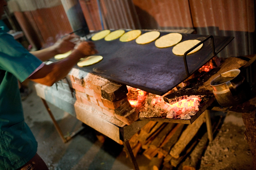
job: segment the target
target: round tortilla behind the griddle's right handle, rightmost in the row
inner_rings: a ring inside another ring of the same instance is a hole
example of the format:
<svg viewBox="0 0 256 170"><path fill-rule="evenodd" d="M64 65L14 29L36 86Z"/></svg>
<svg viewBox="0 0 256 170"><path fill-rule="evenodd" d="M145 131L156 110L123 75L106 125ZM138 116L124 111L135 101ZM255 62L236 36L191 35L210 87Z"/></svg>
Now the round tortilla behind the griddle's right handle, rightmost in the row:
<svg viewBox="0 0 256 170"><path fill-rule="evenodd" d="M180 42L179 44L177 44L176 46L174 46L172 48L172 52L175 55L184 55L184 53L186 51L188 51L190 48L194 47L199 42L201 42L201 41L199 41L199 40L187 40L187 41ZM192 50L188 54L195 53L196 51L198 51L202 47L203 47L203 44L199 45L198 47L196 47L194 50Z"/></svg>

